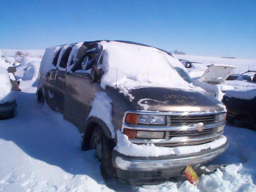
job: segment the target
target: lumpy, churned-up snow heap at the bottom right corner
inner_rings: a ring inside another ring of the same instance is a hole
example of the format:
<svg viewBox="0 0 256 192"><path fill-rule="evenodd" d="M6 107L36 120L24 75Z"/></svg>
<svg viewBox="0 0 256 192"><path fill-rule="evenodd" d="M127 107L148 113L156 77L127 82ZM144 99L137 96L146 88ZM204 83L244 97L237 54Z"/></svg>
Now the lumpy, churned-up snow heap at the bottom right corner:
<svg viewBox="0 0 256 192"><path fill-rule="evenodd" d="M185 181L181 184L165 182L155 186L141 186L139 192L253 192L256 186L249 175L241 174L242 164L232 164L217 169L216 172L200 176L197 186Z"/></svg>

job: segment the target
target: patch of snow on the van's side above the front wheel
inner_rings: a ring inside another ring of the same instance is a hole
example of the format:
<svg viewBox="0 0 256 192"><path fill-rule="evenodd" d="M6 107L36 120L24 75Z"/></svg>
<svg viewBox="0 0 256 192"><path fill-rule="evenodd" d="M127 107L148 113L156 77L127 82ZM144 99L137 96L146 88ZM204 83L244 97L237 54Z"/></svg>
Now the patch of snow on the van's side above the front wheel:
<svg viewBox="0 0 256 192"><path fill-rule="evenodd" d="M109 128L112 138L115 138L116 132L112 123L112 100L104 92L97 92L92 103L92 109L89 117L95 116L101 119Z"/></svg>

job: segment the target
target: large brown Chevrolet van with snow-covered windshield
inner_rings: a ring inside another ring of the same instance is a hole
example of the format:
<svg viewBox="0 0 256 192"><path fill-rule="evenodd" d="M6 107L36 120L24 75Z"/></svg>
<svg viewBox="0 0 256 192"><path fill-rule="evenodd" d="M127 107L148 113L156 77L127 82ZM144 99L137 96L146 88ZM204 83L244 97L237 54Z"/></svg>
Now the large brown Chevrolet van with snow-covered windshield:
<svg viewBox="0 0 256 192"><path fill-rule="evenodd" d="M105 179L152 182L181 175L228 146L225 106L175 70L170 53L126 41L47 48L38 101L84 133Z"/></svg>

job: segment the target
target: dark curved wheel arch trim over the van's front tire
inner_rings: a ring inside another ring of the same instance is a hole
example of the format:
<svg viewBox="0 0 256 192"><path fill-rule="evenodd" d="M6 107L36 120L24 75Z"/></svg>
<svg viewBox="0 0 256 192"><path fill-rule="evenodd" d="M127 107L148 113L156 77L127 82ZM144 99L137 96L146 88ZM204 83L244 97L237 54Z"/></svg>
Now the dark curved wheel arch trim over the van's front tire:
<svg viewBox="0 0 256 192"><path fill-rule="evenodd" d="M100 126L107 139L113 140L108 126L98 117L90 116L85 123L84 138L82 141L82 150L90 150L90 139L96 126Z"/></svg>

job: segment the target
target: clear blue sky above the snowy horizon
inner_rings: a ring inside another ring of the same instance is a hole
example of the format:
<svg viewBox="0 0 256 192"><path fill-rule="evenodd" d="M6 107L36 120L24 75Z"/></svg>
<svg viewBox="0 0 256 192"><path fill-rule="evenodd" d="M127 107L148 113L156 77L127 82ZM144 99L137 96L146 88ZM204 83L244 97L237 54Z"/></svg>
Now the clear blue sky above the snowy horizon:
<svg viewBox="0 0 256 192"><path fill-rule="evenodd" d="M99 39L256 59L256 1L0 0L0 48Z"/></svg>

